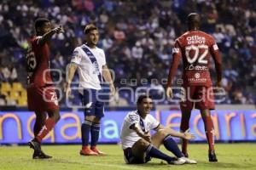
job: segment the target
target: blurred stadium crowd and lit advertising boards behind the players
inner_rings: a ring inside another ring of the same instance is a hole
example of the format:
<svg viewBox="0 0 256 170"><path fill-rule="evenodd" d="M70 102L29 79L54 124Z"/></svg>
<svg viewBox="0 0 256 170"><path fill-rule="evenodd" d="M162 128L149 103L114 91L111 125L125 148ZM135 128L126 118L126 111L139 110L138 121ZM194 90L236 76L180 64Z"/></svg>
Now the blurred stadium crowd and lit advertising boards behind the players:
<svg viewBox="0 0 256 170"><path fill-rule="evenodd" d="M47 17L65 33L50 42L52 76L65 86L66 66L73 49L84 39L83 29L93 22L100 29L99 46L113 69L119 94L107 102L101 142L118 143L127 111L135 109L136 93L152 89L152 114L178 130L178 103L165 98L165 83L172 60L172 45L186 31L186 16L201 14L201 30L218 42L222 57L225 94L212 111L218 141L256 140L256 1L254 0L1 0L0 3L0 145L25 144L32 138L34 116L26 108L26 48L33 21ZM214 66L212 65L214 78ZM61 74L60 74L61 73ZM181 75L181 69L177 72ZM78 79L78 77L76 77ZM131 92L132 89L132 92ZM46 143L80 143L83 113L67 107L59 91L61 121ZM136 93L133 93L136 92ZM71 105L79 105L73 91ZM198 111L190 120L196 141L206 141Z"/></svg>

